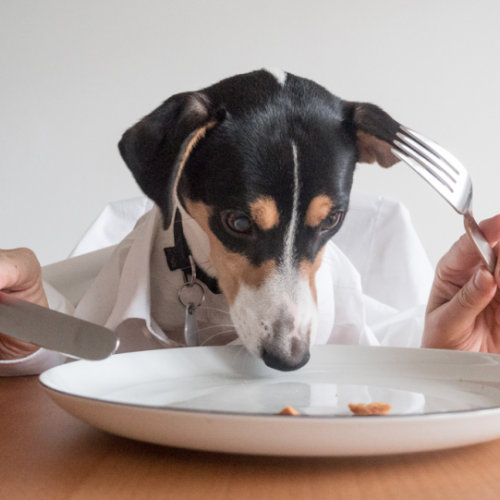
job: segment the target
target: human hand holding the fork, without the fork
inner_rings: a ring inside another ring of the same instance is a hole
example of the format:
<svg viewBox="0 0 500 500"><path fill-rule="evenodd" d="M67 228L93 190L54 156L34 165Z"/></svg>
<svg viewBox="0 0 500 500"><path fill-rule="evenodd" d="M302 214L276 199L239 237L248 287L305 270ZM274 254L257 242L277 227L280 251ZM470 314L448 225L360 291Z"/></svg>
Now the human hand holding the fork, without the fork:
<svg viewBox="0 0 500 500"><path fill-rule="evenodd" d="M499 255L500 215L479 224ZM439 261L422 347L500 353L500 259L487 271L467 235Z"/></svg>

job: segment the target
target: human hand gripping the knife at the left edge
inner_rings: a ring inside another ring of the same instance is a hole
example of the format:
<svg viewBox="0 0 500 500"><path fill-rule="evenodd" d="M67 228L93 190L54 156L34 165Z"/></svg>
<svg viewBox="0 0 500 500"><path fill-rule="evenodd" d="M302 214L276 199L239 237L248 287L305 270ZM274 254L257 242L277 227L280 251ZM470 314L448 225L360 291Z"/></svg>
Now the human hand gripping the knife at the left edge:
<svg viewBox="0 0 500 500"><path fill-rule="evenodd" d="M44 307L49 306L43 289L40 263L31 250L0 250L0 291ZM38 346L0 333L0 359L24 358L38 349Z"/></svg>

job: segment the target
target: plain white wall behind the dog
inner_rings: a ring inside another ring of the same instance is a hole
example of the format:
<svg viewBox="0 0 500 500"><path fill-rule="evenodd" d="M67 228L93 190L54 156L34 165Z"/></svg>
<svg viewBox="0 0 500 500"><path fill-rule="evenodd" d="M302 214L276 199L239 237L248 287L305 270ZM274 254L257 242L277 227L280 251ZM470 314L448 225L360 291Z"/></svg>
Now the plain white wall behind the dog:
<svg viewBox="0 0 500 500"><path fill-rule="evenodd" d="M139 194L116 144L170 95L276 66L374 102L468 167L500 213L498 0L0 1L0 248L65 258L113 200ZM461 218L408 167L355 188L399 198L431 260Z"/></svg>

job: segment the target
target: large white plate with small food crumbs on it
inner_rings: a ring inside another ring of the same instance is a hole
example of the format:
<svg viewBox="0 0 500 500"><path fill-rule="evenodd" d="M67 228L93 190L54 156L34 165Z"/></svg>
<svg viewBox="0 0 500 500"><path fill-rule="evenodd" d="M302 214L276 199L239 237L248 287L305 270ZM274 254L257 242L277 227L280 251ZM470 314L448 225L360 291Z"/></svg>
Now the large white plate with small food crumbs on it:
<svg viewBox="0 0 500 500"><path fill-rule="evenodd" d="M151 443L262 455L375 455L500 437L500 356L315 346L278 372L244 348L143 351L40 376L49 396L105 431ZM382 401L389 416L354 417ZM303 416L276 416L291 405Z"/></svg>

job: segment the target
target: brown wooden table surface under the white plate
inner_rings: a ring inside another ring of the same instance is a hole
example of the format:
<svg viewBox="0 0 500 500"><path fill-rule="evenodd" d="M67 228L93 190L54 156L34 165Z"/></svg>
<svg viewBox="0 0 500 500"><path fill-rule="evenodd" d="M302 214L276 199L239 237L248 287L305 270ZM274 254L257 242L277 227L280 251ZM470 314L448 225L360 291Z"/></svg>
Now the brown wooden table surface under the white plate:
<svg viewBox="0 0 500 500"><path fill-rule="evenodd" d="M0 499L160 498L497 499L500 440L365 458L194 452L93 429L52 403L36 377L0 379Z"/></svg>

